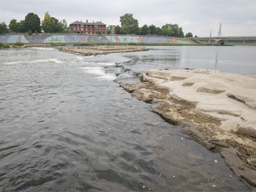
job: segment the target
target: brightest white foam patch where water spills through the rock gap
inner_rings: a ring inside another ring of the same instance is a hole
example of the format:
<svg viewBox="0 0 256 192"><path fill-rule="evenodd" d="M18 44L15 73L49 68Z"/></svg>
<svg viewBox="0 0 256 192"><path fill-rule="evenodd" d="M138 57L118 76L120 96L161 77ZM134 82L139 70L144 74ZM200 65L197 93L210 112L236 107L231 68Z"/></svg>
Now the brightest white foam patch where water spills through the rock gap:
<svg viewBox="0 0 256 192"><path fill-rule="evenodd" d="M114 74L106 74L102 67L81 67L86 74L93 74L97 79L102 80L114 80L116 76Z"/></svg>

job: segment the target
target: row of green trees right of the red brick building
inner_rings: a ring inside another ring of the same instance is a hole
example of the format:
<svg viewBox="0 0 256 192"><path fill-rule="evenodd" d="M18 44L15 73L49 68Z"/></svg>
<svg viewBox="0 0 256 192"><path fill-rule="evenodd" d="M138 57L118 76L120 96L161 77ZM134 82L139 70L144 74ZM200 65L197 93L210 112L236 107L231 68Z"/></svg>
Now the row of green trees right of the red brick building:
<svg viewBox="0 0 256 192"><path fill-rule="evenodd" d="M125 13L120 17L120 26L116 26L116 34L136 34L136 35L163 35L163 36L175 36L175 37L193 37L192 33L184 33L182 28L178 24L165 24L162 28L154 26L153 24L147 26L146 24L139 27L137 19L132 17L131 13Z"/></svg>

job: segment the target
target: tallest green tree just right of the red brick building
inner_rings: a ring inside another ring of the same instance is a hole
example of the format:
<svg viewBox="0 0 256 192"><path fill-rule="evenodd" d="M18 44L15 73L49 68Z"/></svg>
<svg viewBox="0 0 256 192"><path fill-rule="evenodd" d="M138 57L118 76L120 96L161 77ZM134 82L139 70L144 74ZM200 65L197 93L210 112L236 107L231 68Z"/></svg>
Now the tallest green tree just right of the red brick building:
<svg viewBox="0 0 256 192"><path fill-rule="evenodd" d="M131 13L125 13L125 15L121 16L120 22L121 28L123 28L125 34L130 34L134 33L135 31L138 31L138 20L134 19Z"/></svg>

